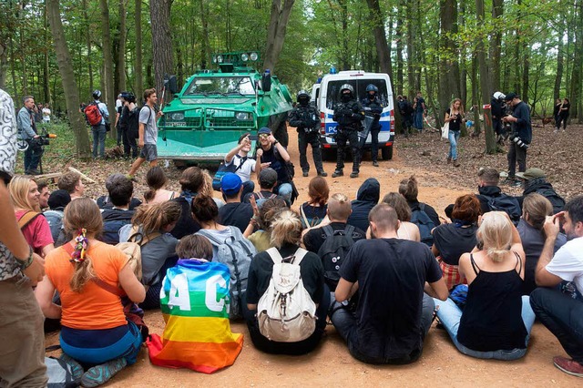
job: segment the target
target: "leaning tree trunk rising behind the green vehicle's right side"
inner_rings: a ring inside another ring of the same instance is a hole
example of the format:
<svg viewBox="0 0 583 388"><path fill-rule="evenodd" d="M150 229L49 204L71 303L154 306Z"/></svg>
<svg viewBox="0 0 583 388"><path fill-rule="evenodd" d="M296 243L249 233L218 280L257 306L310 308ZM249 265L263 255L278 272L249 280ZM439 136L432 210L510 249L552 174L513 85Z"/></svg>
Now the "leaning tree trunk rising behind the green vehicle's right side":
<svg viewBox="0 0 583 388"><path fill-rule="evenodd" d="M263 61L263 68L269 68L271 72L275 69L277 60L280 57L286 28L292 14L293 3L295 3L295 0L283 0L283 5L281 5L281 0L271 0L270 25L267 29L267 45L265 60ZM348 56L346 57L348 59Z"/></svg>

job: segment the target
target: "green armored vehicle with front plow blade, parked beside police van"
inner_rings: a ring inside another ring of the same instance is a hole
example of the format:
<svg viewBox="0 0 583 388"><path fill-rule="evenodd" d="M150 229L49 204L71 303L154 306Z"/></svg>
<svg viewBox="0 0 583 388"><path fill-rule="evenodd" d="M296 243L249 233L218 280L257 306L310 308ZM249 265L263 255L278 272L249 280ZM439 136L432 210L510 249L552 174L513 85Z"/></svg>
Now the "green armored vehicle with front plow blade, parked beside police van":
<svg viewBox="0 0 583 388"><path fill-rule="evenodd" d="M255 52L218 54L212 57L219 70L199 70L159 119L159 158L188 161L220 161L237 146L245 132L257 139L257 130L269 127L287 146L286 119L292 97L269 70L261 74L251 62Z"/></svg>

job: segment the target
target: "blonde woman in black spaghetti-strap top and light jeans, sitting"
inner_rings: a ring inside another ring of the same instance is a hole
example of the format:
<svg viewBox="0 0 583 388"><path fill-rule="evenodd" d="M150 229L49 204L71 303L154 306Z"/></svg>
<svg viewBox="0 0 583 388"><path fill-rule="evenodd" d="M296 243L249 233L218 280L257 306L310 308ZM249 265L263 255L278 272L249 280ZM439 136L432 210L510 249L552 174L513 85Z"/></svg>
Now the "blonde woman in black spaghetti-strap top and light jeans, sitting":
<svg viewBox="0 0 583 388"><path fill-rule="evenodd" d="M459 271L468 284L464 311L451 299L435 301L437 317L458 351L496 360L527 352L535 314L522 296L525 252L518 230L503 211L490 211L477 230L481 250L464 253Z"/></svg>

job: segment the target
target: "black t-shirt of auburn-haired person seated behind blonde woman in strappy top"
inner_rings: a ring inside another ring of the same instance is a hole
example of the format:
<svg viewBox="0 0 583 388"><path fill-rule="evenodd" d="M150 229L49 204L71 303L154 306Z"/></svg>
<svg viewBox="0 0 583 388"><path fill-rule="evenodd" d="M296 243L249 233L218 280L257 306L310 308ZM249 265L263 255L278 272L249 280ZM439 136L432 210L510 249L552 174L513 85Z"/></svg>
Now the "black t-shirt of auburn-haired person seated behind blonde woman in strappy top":
<svg viewBox="0 0 583 388"><path fill-rule="evenodd" d="M451 223L435 228L434 244L439 250L441 259L447 264L459 265L460 256L476 247L476 230L476 224L467 228L457 228L455 223Z"/></svg>

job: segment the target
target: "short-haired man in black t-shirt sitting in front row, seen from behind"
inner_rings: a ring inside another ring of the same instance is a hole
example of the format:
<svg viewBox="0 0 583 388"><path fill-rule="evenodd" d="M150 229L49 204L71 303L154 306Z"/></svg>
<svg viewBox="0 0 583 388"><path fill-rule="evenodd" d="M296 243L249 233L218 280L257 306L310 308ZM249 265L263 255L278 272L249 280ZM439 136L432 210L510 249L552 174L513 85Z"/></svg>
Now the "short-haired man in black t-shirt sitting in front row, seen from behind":
<svg viewBox="0 0 583 388"><path fill-rule="evenodd" d="M445 301L445 281L427 246L397 238L399 220L393 208L380 203L369 220L373 240L357 241L340 268L332 323L357 360L414 362L423 352L434 313L434 301L424 290ZM353 313L341 303L357 289Z"/></svg>

